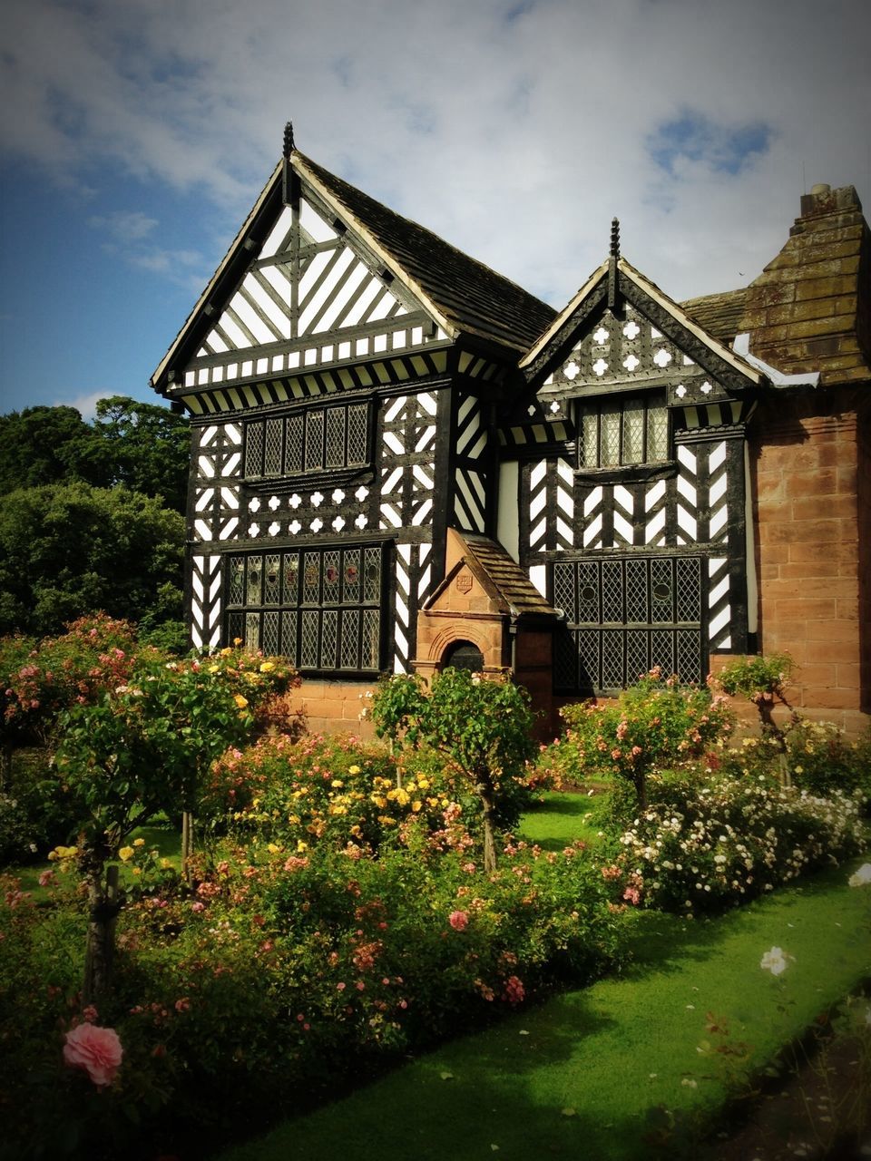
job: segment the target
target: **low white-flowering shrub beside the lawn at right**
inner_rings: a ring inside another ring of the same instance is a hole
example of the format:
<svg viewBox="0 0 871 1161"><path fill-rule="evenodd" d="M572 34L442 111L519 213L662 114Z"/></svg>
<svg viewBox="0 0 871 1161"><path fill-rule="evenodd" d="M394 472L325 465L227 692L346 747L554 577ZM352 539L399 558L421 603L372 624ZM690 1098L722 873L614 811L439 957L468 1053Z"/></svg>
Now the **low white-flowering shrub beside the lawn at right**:
<svg viewBox="0 0 871 1161"><path fill-rule="evenodd" d="M646 907L715 910L772 890L863 846L859 803L766 779L675 779L622 835L606 868L622 897ZM616 872L616 873L614 873Z"/></svg>

